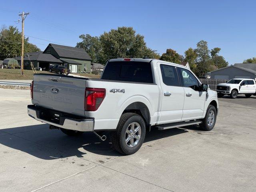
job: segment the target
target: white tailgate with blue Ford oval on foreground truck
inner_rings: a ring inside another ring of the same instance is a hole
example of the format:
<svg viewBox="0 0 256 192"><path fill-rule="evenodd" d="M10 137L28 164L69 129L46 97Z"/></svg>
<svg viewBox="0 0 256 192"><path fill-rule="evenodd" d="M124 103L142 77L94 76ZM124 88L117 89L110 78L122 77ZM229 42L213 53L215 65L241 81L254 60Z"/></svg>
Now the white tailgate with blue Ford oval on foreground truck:
<svg viewBox="0 0 256 192"><path fill-rule="evenodd" d="M85 82L86 78L35 74L32 102L60 112L85 116Z"/></svg>

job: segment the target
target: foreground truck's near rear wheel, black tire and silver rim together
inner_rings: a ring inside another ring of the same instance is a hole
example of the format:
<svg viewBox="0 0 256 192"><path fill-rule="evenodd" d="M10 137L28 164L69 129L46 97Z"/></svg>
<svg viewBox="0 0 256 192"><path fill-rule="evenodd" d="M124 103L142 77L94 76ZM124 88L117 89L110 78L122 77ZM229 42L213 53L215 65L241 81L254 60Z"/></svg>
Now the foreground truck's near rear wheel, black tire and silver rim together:
<svg viewBox="0 0 256 192"><path fill-rule="evenodd" d="M112 134L112 144L115 150L124 155L134 154L142 146L145 134L146 126L142 117L135 113L124 113Z"/></svg>

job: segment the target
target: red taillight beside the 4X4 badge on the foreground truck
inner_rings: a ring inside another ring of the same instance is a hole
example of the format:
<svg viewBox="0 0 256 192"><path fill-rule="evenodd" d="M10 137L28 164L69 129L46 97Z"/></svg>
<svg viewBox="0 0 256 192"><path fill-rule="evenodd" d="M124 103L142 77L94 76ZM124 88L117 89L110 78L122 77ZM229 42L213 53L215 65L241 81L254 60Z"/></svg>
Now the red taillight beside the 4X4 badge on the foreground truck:
<svg viewBox="0 0 256 192"><path fill-rule="evenodd" d="M106 90L102 88L86 88L84 110L96 111L102 103Z"/></svg>

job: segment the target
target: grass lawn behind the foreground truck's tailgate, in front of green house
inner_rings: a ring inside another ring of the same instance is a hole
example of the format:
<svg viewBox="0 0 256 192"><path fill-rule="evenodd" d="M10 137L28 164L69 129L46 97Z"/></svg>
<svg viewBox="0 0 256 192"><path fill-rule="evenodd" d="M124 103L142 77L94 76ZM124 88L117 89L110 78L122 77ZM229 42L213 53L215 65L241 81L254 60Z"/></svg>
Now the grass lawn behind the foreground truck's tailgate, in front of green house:
<svg viewBox="0 0 256 192"><path fill-rule="evenodd" d="M33 79L33 70L23 70L24 74L20 74L20 69L0 69L0 79L6 80L32 80ZM48 73L55 74L48 71L36 71L37 73ZM77 74L80 76L99 79L100 75L94 74Z"/></svg>

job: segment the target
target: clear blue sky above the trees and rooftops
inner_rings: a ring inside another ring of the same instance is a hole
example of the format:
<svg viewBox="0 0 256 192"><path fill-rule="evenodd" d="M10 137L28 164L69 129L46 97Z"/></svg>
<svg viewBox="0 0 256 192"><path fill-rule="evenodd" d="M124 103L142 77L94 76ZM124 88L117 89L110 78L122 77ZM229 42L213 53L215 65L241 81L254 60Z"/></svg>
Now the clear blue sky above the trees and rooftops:
<svg viewBox="0 0 256 192"><path fill-rule="evenodd" d="M255 0L0 0L0 26L16 24L19 12L30 12L25 35L76 46L80 34L99 36L118 26L132 26L147 46L162 54L196 48L200 40L209 49L220 47L229 64L256 57ZM48 41L30 37L41 50Z"/></svg>

